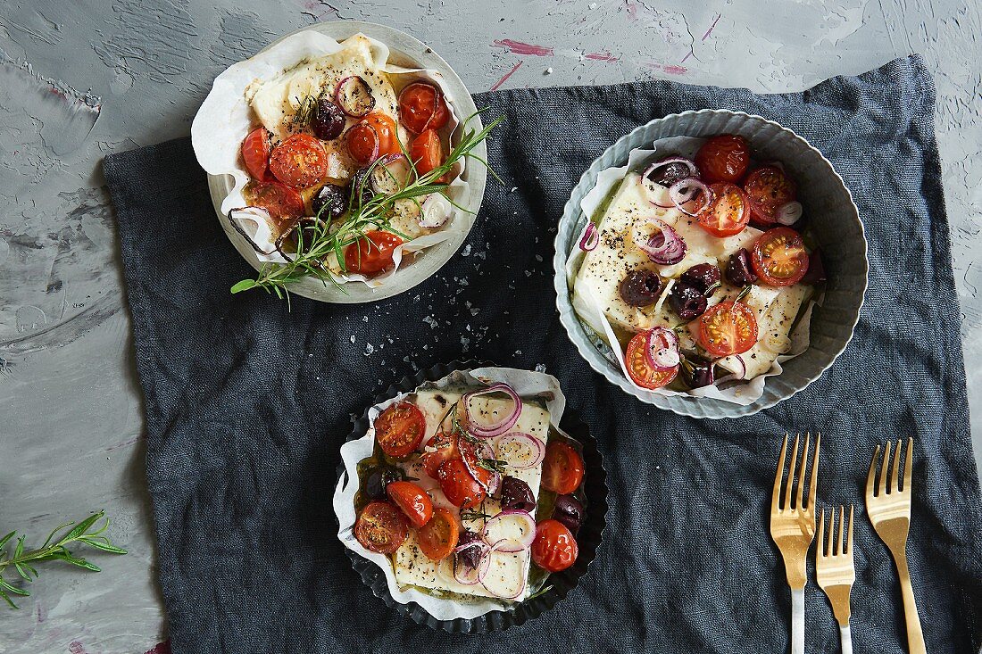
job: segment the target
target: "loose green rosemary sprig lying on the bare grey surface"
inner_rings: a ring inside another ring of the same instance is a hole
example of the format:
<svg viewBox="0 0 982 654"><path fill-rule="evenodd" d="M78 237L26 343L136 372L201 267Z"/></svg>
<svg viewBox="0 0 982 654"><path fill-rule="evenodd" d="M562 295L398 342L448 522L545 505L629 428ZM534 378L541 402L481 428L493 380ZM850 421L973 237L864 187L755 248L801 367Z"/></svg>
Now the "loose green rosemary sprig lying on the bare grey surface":
<svg viewBox="0 0 982 654"><path fill-rule="evenodd" d="M30 595L27 590L15 586L3 577L3 573L8 568L13 568L27 582L37 578L37 571L34 569L34 565L44 561L64 561L73 566L84 568L85 570L99 572L100 569L98 566L85 561L82 557L76 556L69 551L68 545L72 543L82 543L94 547L97 550L102 550L103 552L111 552L112 554L126 554L126 550L116 547L110 542L107 536L102 535L102 532L109 527L109 518L106 518L102 526L96 528L96 523L104 517L105 513L100 511L80 522L60 524L54 531L48 534L44 544L34 550L25 549L24 539L26 536L24 534L17 538L16 545L12 542L14 537L17 536L17 531L11 531L3 538L0 538L0 598L5 600L12 609L17 609L20 607L14 603L11 595L20 595L22 597ZM68 531L64 531L65 529L68 529ZM63 535L55 538L62 531L64 531ZM11 549L13 549L13 552L11 552Z"/></svg>

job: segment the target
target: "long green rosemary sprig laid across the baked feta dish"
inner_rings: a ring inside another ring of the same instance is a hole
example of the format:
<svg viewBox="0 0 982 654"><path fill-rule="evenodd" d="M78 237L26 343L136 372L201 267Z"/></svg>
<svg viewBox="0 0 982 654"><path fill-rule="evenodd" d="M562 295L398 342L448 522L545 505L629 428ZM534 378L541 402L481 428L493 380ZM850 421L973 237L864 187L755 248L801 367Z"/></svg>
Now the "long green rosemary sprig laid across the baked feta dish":
<svg viewBox="0 0 982 654"><path fill-rule="evenodd" d="M479 113L479 112L478 112ZM337 256L338 265L345 270L344 248L352 245L364 238L366 232L371 230L384 230L405 238L397 230L393 229L390 217L393 215L397 202L411 200L417 202L417 197L440 193L449 202L459 209L467 211L464 207L456 204L448 195L445 182L441 178L449 174L454 166L461 159L473 158L487 163L475 154L471 154L477 145L487 138L488 134L496 128L504 117L499 117L492 121L487 127L477 132L473 129L467 130L467 124L473 120L477 114L469 116L464 121L464 136L454 149L450 151L447 160L440 166L428 173L418 175L411 157L407 155L409 166L412 170L412 181L405 189L393 193L374 193L371 198L362 201L361 191L364 185L368 184L372 172L379 165L380 160L376 160L368 168L367 174L360 178L358 188L352 191L352 199L349 205L349 217L340 224L330 225L326 221L312 221L312 225L298 229L297 233L297 253L286 263L266 263L255 279L244 279L232 287L232 293L242 293L249 289L263 289L267 293L274 293L278 298L289 297L288 287L304 277L316 277L326 286L334 284L339 288L343 287L334 278L331 272L324 265L324 260L334 253ZM404 152L405 145L400 143ZM490 170L490 169L489 169ZM494 171L491 171L494 174ZM495 176L497 177L497 176ZM319 218L319 215L317 216ZM369 242L370 243L370 242Z"/></svg>

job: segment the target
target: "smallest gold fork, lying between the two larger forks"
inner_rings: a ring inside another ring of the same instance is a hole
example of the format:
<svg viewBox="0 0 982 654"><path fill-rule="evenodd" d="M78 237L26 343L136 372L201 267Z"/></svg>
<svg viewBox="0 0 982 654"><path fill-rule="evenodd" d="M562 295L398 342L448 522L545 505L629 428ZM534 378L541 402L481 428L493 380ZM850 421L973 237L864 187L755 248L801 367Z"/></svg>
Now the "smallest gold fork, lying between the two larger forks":
<svg viewBox="0 0 982 654"><path fill-rule="evenodd" d="M832 604L839 623L843 654L852 654L852 634L849 631L849 591L856 580L852 565L852 505L849 505L849 525L846 530L846 507L839 507L839 538L836 533L836 510L829 516L829 533L825 533L825 510L818 518L818 547L815 548L815 577ZM825 541L824 543L822 541Z"/></svg>

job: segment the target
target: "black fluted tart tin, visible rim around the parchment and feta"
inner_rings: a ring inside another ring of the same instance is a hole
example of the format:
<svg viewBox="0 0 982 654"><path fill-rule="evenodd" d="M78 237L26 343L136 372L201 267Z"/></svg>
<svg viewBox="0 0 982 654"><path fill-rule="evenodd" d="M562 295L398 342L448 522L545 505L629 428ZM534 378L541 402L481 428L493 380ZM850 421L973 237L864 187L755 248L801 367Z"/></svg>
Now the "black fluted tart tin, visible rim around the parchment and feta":
<svg viewBox="0 0 982 654"><path fill-rule="evenodd" d="M453 372L468 372L481 367L497 366L486 361L451 361L450 363L435 365L428 370L420 370L411 377L404 377L402 381L392 384L383 393L377 395L372 405L365 408L361 417L355 419L354 428L348 435L346 442L357 440L368 433L368 409L371 406L385 402L402 393L411 393L423 383L439 381ZM576 534L576 543L579 546L576 563L563 572L550 574L543 586L551 585L549 590L540 591L536 596L517 602L508 609L489 611L482 616L469 620L464 618L437 620L415 602L405 604L397 602L392 597L392 593L389 592L385 572L382 572L382 569L376 564L346 547L345 551L352 560L355 571L361 575L361 580L371 588L376 597L380 597L390 607L409 616L413 622L433 629L443 629L450 633L504 631L509 627L523 625L529 620L538 618L563 601L579 583L579 579L589 571L590 564L596 558L597 550L603 541L604 527L607 524L607 472L604 470L603 456L597 449L596 439L590 434L589 426L583 422L575 410L569 407L564 410L563 418L560 420L560 428L582 445L585 468L583 492L586 495L586 517ZM337 488L341 481L341 475L344 473L345 464L342 462L338 465L335 488ZM335 520L340 528L340 521L337 516L335 516Z"/></svg>

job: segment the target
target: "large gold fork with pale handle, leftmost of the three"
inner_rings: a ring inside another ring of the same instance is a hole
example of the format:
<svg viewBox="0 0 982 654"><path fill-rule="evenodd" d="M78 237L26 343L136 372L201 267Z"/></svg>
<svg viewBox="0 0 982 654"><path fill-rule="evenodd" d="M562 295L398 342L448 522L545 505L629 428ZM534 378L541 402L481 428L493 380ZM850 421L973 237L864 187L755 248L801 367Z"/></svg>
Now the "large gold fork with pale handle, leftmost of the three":
<svg viewBox="0 0 982 654"><path fill-rule="evenodd" d="M781 503L781 480L785 472L785 455L788 453L788 435L781 446L781 460L774 478L774 494L771 496L771 538L781 550L785 561L788 585L791 586L791 654L804 654L804 586L808 582L805 562L808 548L815 536L815 487L818 483L818 450L822 435L815 439L815 453L811 463L811 484L807 500L804 499L805 469L808 463L808 448L811 433L805 436L804 450L800 466L797 458L798 440L794 437L794 452L791 454L791 469L788 472L788 485L785 487L785 501ZM791 487L794 485L794 470L798 469L797 501L791 504Z"/></svg>

